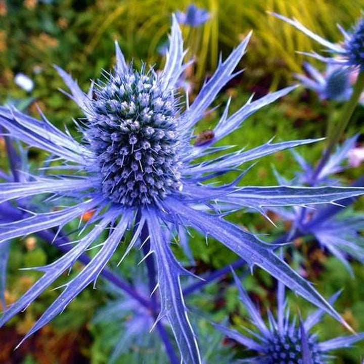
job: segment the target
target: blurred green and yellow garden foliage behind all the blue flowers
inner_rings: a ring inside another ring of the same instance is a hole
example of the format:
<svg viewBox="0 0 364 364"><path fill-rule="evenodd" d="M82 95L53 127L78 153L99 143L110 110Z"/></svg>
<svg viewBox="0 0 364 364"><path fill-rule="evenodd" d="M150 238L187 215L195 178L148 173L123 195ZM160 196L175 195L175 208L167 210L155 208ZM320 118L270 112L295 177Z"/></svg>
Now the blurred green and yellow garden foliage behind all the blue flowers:
<svg viewBox="0 0 364 364"><path fill-rule="evenodd" d="M249 30L253 29L253 37L248 53L240 67L245 72L234 78L224 89L220 102L225 103L232 97L231 110L247 100L251 92L257 95L266 94L268 90L285 86L293 81L293 73L303 73L304 57L296 50L320 50L304 34L296 31L279 19L270 17L266 11L275 11L290 18L295 17L315 33L323 35L331 41L339 40L340 33L336 23L348 28L360 15L364 0L205 0L196 1L196 6L209 13L208 19L196 27L184 24L183 32L186 48L190 50L188 57L195 63L188 70L186 80L194 88L202 83L204 77L215 69L219 52L223 58L238 44ZM89 85L90 78L100 76L101 69L109 69L114 63L110 55L114 54L114 41L117 39L127 60L134 59L136 66L142 61L148 64L163 63L159 54L168 40L170 14L186 13L190 2L187 0L0 0L0 102L20 102L27 107L30 114L37 115L35 102L56 126L63 129L67 125L71 133L75 126L72 117L79 116L77 107L60 92L62 80L52 67L57 64L72 73L83 89ZM312 60L310 60L311 62ZM312 62L321 72L325 68ZM157 67L159 68L159 67ZM25 76L20 77L19 74ZM329 107L328 107L329 106ZM340 102L329 104L320 100L312 92L300 88L292 95L284 98L279 104L264 109L245 121L244 134L235 133L229 136L232 145L254 147L266 142L272 135L282 140L304 139L325 135L326 121L329 113L338 113ZM212 110L199 125L200 130L210 129L222 111ZM347 136L359 133L356 148L349 152L355 156L363 145L364 126L360 120L364 117L364 109L358 107L346 130ZM321 156L324 145L317 143L310 147L300 147L299 153L308 163L314 164ZM356 154L355 154L356 153ZM359 155L360 156L360 155ZM44 156L38 151L28 150L28 158L32 166L39 164ZM353 158L353 157L352 157ZM362 158L362 157L361 157ZM350 160L349 160L350 161ZM355 168L346 168L336 175L343 183L358 178L363 173L360 158L355 159ZM4 139L0 138L0 166L6 168L6 148ZM347 163L344 161L344 164ZM244 183L252 185L273 185L276 181L275 170L287 178L294 177L294 169L299 165L290 153L277 153L272 159L263 159L244 177ZM287 166L290 168L287 168ZM293 168L295 166L295 168ZM356 210L364 208L362 201L355 204ZM232 218L260 233L278 236L287 231L287 221L271 212L269 217L278 225L278 229L267 220L250 212L235 214ZM69 228L71 232L72 226ZM69 233L68 232L68 233ZM303 243L307 244L303 244ZM364 271L359 262L351 261L355 280L350 277L344 266L323 251L311 237L303 241L296 239L296 253L292 253L292 261L297 267L304 267L304 272L325 296L334 294L345 287L337 302L339 312L357 331L364 330L364 295L361 282ZM196 261L196 272L218 269L233 262L236 256L213 240L205 245L203 239L194 237L191 249ZM118 259L115 257L115 266ZM59 256L56 248L49 246L40 238L30 236L24 240L12 242L6 290L7 303L14 302L39 277L37 272L22 272L20 267L38 266L49 263ZM91 252L92 254L92 252ZM176 250L179 258L184 257L182 251ZM185 259L188 263L188 259ZM304 263L304 264L302 264ZM128 280L132 280L135 262L125 260L118 268ZM81 265L76 265L80 269ZM67 272L57 282L61 285L67 279ZM254 296L261 307L275 303L276 286L264 272L255 272L254 277L247 275L244 287ZM130 311L122 311L119 320L93 320L97 308L108 305L110 298L118 295L108 290L86 289L74 300L67 311L43 328L37 335L26 341L17 351L13 348L34 323L44 307L54 299L56 293L47 291L41 299L31 305L22 315L15 317L9 326L0 329L0 362L22 364L45 363L88 363L104 364L109 362L115 347L115 333L120 326L125 326L132 319ZM116 297L115 297L116 296ZM119 297L120 299L120 297ZM310 312L311 307L288 293L288 299L295 304L301 303L302 316ZM188 303L208 311L210 321L221 322L230 317L236 327L242 324L242 309L239 307L236 287L232 287L231 278L225 278L218 285L206 286L201 294L191 295ZM244 310L243 310L244 312ZM102 314L99 313L99 317ZM198 317L194 315L194 318ZM114 319L114 317L112 317ZM246 322L244 323L246 325ZM249 324L248 324L249 325ZM205 320L198 320L198 332L202 342L202 355L205 362L233 362L228 356L239 353L240 357L248 354L240 348L226 346L222 335L214 333ZM214 333L214 334L213 334ZM345 335L345 330L329 317L324 319L320 331L322 340ZM132 345L120 352L116 362L161 362L165 357L158 350L143 348L158 347L158 340L148 337L144 345ZM209 352L215 343L216 350ZM217 344L216 344L217 345ZM337 363L354 363L364 351L363 344L352 350L337 354ZM210 356L208 356L210 355ZM148 358L149 361L146 361ZM154 360L154 361L153 361ZM225 360L225 361L224 361Z"/></svg>

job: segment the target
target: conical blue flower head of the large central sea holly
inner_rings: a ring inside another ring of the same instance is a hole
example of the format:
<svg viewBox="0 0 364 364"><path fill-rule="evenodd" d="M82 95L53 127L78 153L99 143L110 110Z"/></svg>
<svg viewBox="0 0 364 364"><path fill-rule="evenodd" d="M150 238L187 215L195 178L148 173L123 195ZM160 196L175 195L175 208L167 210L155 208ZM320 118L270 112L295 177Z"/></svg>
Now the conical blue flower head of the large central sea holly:
<svg viewBox="0 0 364 364"><path fill-rule="evenodd" d="M149 204L180 188L181 142L172 91L144 67L122 73L116 68L106 82L99 82L85 133L102 191L113 202Z"/></svg>

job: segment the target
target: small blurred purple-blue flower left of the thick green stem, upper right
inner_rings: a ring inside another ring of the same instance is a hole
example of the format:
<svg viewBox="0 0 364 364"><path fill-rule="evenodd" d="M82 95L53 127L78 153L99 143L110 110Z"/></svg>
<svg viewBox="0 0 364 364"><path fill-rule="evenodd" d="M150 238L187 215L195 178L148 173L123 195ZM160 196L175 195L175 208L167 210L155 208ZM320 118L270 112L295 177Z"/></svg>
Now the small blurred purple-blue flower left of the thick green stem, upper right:
<svg viewBox="0 0 364 364"><path fill-rule="evenodd" d="M309 77L296 74L302 84L312 89L321 100L349 100L352 88L349 81L349 70L336 66L328 65L326 72L322 74L309 63L305 63L305 70Z"/></svg>

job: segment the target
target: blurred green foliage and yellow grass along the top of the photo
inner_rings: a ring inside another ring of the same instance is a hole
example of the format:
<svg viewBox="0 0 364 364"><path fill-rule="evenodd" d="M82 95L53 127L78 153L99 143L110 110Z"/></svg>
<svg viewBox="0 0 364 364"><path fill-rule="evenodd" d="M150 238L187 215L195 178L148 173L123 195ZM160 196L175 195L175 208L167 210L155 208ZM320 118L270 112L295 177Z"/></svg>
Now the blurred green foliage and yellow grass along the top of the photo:
<svg viewBox="0 0 364 364"><path fill-rule="evenodd" d="M157 49L167 39L170 14L185 10L189 3L189 0L66 0L47 4L2 0L0 97L9 96L9 90L13 96L21 96L13 76L22 71L35 80L34 96L60 113L59 121L64 120L60 107L65 102L54 92L61 84L50 66L65 67L77 78L81 77L82 86L86 85L90 78L99 75L101 68L108 69L112 64L114 39L120 42L126 58L134 59L137 65L141 60L160 64L162 59ZM276 88L282 80L291 79L292 71L300 71L303 58L295 51L317 50L317 45L266 11L296 17L314 32L338 41L336 23L344 27L352 24L364 0L205 0L196 4L207 9L211 19L200 28L183 29L190 56L196 56L195 82L201 82L215 69L220 50L227 54L253 29L244 61L249 84L252 78L262 78L268 80L269 87Z"/></svg>

